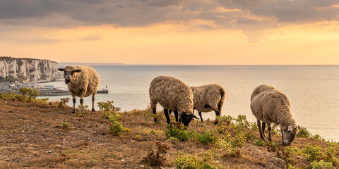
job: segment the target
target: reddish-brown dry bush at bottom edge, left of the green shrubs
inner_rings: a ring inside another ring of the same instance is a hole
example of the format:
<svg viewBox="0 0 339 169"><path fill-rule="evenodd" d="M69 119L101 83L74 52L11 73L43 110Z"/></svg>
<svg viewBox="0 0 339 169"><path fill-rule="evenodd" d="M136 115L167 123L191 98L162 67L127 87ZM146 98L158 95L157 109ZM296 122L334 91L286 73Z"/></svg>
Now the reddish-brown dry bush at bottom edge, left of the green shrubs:
<svg viewBox="0 0 339 169"><path fill-rule="evenodd" d="M151 166L164 166L166 161L165 154L169 151L169 147L160 142L157 142L156 145L157 151L148 148L148 154L143 158L143 162L148 163Z"/></svg>

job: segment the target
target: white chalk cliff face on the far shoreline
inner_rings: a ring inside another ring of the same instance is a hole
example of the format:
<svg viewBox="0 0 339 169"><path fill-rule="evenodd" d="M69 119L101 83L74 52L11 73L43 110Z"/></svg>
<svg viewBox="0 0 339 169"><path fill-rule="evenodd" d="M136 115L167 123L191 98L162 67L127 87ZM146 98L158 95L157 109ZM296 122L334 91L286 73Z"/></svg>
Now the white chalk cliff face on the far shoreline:
<svg viewBox="0 0 339 169"><path fill-rule="evenodd" d="M24 82L52 80L58 76L58 63L32 58L0 57L0 76L12 76Z"/></svg>

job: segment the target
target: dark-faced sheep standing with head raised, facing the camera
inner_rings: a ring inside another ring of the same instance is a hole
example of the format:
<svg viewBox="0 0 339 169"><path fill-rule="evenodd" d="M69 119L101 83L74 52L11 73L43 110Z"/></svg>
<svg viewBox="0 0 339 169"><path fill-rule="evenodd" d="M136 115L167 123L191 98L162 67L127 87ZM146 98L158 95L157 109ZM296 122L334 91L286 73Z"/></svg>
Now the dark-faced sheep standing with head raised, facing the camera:
<svg viewBox="0 0 339 169"><path fill-rule="evenodd" d="M80 97L81 113L83 114L83 97L90 95L92 95L92 111L95 112L95 94L97 94L99 86L97 71L92 67L82 65L67 65L65 68L58 68L58 70L64 72L65 83L73 97L72 113L76 113L76 96Z"/></svg>

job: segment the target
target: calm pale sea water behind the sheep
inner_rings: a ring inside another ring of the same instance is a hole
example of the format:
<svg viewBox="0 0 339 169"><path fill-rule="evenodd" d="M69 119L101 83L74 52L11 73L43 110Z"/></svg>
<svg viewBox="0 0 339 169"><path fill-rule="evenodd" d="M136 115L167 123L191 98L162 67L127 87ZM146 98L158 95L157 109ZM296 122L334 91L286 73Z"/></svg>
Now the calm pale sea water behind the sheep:
<svg viewBox="0 0 339 169"><path fill-rule="evenodd" d="M109 94L97 94L96 101L114 101L122 111L147 108L151 80L158 75L170 75L189 86L221 84L226 92L222 115L243 114L255 122L249 107L251 93L260 84L270 84L288 96L298 125L324 139L339 141L337 65L94 65L93 68L100 75L100 89L106 85L109 89ZM64 82L48 84L66 87ZM62 97L66 96L50 96L49 100ZM77 106L78 102L79 99ZM91 106L90 97L85 98L85 105ZM160 106L157 110L161 110ZM215 113L203 113L203 118L213 119Z"/></svg>

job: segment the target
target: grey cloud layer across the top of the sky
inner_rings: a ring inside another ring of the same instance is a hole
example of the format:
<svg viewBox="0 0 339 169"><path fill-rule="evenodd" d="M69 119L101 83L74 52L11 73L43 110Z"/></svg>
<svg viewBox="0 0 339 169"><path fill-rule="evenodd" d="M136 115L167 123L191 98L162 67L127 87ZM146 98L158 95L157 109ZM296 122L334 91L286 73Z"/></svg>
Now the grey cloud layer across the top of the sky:
<svg viewBox="0 0 339 169"><path fill-rule="evenodd" d="M0 23L137 27L167 20L212 20L226 28L260 27L269 22L272 25L339 20L339 8L331 7L334 4L338 4L338 0L0 0ZM220 7L225 10L217 10ZM59 15L64 22L57 18Z"/></svg>

